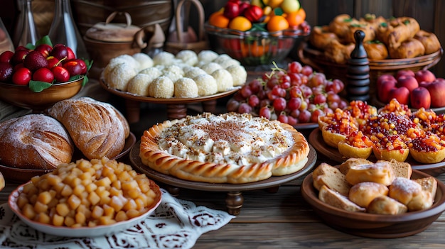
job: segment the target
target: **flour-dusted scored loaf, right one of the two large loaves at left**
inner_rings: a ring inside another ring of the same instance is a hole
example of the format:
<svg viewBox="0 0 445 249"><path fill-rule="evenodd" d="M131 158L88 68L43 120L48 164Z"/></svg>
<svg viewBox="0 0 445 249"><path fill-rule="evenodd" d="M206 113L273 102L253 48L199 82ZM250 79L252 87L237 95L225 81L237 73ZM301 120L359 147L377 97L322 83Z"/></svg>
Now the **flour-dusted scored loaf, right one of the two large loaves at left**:
<svg viewBox="0 0 445 249"><path fill-rule="evenodd" d="M59 101L49 114L63 123L90 160L119 155L129 135L127 120L114 106L89 97Z"/></svg>

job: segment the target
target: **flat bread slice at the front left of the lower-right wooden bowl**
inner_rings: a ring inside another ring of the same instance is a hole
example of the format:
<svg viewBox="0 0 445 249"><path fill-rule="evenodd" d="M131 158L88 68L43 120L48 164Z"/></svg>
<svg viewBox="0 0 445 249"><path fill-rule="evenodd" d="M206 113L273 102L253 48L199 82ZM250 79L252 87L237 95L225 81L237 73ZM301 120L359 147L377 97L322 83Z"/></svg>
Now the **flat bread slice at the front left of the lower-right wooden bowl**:
<svg viewBox="0 0 445 249"><path fill-rule="evenodd" d="M343 209L346 211L353 211L353 212L365 211L363 207L360 207L357 204L353 203L353 201L350 201L347 197L343 196L342 194L335 192L332 189L329 189L328 187L326 187L326 185L323 185L320 189L320 192L318 192L318 199L320 199L326 204L335 206L338 209Z"/></svg>

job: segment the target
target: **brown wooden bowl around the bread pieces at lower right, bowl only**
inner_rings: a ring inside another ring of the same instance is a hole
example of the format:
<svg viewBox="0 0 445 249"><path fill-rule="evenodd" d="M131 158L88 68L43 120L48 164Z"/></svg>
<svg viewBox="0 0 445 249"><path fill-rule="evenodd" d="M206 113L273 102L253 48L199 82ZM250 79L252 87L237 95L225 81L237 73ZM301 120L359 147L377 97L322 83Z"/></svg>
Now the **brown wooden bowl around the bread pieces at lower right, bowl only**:
<svg viewBox="0 0 445 249"><path fill-rule="evenodd" d="M413 170L412 179L422 177L429 175ZM430 209L394 216L345 211L324 203L318 199L318 190L313 187L312 173L301 184L301 194L313 211L338 231L368 238L400 238L424 231L445 210L445 184L436 180L437 193Z"/></svg>

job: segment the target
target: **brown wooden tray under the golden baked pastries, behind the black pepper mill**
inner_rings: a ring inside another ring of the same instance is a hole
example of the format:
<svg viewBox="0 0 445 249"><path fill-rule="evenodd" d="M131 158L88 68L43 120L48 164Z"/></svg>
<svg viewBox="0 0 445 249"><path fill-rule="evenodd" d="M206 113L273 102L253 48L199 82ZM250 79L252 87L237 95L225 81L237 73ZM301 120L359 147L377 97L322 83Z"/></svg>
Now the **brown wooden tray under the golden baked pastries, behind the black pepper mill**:
<svg viewBox="0 0 445 249"><path fill-rule="evenodd" d="M387 60L369 60L370 66L370 96L375 95L375 82L382 74L395 75L399 70L427 70L436 65L443 55L444 50L440 48L438 51L407 59L387 59ZM323 72L328 79L341 79L347 82L346 73L348 65L338 64L328 60L323 52L310 48L307 42L301 42L298 48L298 55L301 62L313 67L317 72Z"/></svg>

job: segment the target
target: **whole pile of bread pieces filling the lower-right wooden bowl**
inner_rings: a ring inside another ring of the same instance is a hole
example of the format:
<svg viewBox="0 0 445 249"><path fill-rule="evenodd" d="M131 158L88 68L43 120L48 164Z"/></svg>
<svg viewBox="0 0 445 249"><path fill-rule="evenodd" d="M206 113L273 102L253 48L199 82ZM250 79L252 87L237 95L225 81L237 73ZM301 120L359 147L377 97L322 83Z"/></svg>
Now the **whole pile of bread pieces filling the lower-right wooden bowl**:
<svg viewBox="0 0 445 249"><path fill-rule="evenodd" d="M318 198L339 209L396 215L429 209L436 197L434 177L411 179L407 162L350 158L339 167L321 163L313 170Z"/></svg>

